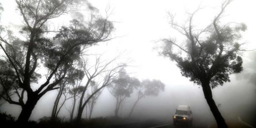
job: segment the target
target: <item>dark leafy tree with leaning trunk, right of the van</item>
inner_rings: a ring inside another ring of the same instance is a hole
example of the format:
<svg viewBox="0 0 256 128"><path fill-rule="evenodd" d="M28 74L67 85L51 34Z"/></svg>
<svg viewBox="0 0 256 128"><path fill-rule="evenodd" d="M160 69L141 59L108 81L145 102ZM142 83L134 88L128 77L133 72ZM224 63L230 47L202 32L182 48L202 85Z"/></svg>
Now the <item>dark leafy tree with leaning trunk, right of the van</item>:
<svg viewBox="0 0 256 128"><path fill-rule="evenodd" d="M234 22L221 25L220 22L221 15L230 2L231 0L225 0L212 23L200 31L192 24L193 16L199 9L189 14L189 21L183 26L176 23L174 16L170 15L170 24L185 36L186 47L177 44L174 39L164 39L161 51L162 55L177 62L182 76L201 85L218 128L227 128L227 125L212 99L211 88L223 85L224 82L230 81L230 74L240 73L243 70L243 61L239 56L241 44L238 41L241 38L240 32L244 31L246 26L244 23ZM181 53L176 53L174 47L177 47Z"/></svg>

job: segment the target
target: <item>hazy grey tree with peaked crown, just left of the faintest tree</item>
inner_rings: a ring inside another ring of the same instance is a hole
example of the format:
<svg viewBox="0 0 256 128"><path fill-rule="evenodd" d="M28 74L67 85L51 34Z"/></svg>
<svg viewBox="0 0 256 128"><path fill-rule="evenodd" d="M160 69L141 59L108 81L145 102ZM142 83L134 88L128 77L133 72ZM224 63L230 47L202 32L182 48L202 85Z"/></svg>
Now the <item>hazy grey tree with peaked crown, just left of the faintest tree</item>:
<svg viewBox="0 0 256 128"><path fill-rule="evenodd" d="M130 77L125 68L119 70L119 76L113 80L113 84L108 86L109 92L116 98L115 116L119 116L119 110L127 97L133 93L134 87L139 86L140 81L137 78Z"/></svg>

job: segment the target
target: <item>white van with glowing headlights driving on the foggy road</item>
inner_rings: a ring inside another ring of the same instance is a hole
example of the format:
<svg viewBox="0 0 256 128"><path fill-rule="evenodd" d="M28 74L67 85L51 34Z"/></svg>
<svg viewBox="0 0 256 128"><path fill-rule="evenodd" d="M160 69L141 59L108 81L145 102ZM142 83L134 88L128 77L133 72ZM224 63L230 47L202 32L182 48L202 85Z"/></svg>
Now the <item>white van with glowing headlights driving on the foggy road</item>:
<svg viewBox="0 0 256 128"><path fill-rule="evenodd" d="M173 115L173 125L184 124L192 125L192 111L187 105L179 105L176 109L175 114Z"/></svg>

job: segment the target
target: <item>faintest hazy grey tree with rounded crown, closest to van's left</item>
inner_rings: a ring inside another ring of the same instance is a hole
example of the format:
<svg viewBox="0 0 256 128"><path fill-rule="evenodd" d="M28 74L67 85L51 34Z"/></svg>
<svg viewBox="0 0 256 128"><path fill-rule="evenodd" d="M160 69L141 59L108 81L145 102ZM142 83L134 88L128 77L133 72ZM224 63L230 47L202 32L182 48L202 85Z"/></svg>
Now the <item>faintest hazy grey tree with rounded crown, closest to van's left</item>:
<svg viewBox="0 0 256 128"><path fill-rule="evenodd" d="M152 81L149 79L145 79L141 82L141 84L137 84L135 86L135 91L137 93L137 100L134 102L134 105L131 108L131 111L128 117L131 116L132 112L134 111L135 106L145 96L158 96L160 91L164 91L165 84L163 84L159 80L153 79Z"/></svg>

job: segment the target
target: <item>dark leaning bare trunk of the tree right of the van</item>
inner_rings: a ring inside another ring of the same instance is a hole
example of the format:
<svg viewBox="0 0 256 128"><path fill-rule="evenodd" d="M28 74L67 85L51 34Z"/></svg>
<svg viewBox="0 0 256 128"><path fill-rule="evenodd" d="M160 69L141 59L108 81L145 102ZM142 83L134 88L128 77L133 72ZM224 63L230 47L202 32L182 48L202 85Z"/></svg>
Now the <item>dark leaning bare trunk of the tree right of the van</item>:
<svg viewBox="0 0 256 128"><path fill-rule="evenodd" d="M212 111L212 114L217 122L218 128L227 128L227 124L224 120L224 118L221 116L220 111L218 110L218 107L216 106L214 100L212 99L212 90L209 85L209 81L202 82L202 88L204 92L204 97L209 105L210 110Z"/></svg>

